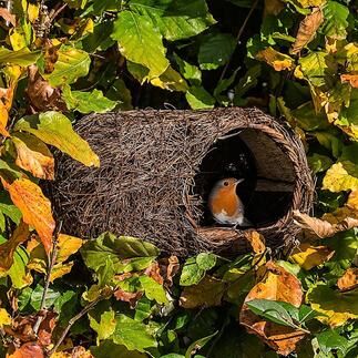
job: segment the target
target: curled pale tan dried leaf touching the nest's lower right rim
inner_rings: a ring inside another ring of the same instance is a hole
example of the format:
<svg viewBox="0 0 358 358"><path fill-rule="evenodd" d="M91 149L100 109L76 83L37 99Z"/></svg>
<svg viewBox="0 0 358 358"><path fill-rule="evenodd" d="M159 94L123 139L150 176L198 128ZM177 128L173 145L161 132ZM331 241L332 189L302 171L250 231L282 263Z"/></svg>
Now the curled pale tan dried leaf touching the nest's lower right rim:
<svg viewBox="0 0 358 358"><path fill-rule="evenodd" d="M294 211L294 219L299 227L307 229L310 234L315 234L320 238L331 237L339 232L345 232L358 226L358 218L346 217L337 224L330 224L324 219L310 217L298 211Z"/></svg>

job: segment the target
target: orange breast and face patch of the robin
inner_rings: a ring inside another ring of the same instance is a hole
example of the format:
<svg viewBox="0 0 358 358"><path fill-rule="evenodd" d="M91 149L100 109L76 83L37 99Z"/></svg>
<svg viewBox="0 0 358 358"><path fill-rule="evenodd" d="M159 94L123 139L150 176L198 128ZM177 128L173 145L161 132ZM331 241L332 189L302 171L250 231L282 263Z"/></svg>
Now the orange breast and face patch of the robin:
<svg viewBox="0 0 358 358"><path fill-rule="evenodd" d="M223 209L227 216L234 216L238 208L238 198L235 187L222 187L209 200L209 209L214 214L221 213Z"/></svg>

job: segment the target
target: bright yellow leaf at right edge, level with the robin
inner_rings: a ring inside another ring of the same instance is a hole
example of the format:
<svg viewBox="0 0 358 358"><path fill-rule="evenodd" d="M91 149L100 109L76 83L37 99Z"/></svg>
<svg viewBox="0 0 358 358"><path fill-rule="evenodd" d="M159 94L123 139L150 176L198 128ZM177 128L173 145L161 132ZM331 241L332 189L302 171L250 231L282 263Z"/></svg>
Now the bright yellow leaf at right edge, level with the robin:
<svg viewBox="0 0 358 358"><path fill-rule="evenodd" d="M326 173L323 188L334 193L358 188L358 168L349 162L338 162Z"/></svg>

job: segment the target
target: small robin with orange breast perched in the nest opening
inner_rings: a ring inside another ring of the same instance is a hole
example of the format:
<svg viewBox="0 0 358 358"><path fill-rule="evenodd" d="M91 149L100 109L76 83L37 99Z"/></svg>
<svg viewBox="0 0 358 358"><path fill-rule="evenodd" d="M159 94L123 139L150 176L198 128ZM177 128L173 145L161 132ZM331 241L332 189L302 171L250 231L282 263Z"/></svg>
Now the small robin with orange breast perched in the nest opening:
<svg viewBox="0 0 358 358"><path fill-rule="evenodd" d="M244 204L236 194L236 186L244 180L235 177L227 177L218 181L209 196L208 208L213 217L219 224L229 224L238 226L250 226L244 216Z"/></svg>

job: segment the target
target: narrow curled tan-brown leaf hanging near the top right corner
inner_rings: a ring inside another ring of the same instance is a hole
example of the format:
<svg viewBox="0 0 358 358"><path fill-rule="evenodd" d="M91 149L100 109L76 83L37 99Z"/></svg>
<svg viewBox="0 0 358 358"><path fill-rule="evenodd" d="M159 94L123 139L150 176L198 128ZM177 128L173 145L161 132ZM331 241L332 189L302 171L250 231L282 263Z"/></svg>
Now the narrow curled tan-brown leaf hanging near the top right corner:
<svg viewBox="0 0 358 358"><path fill-rule="evenodd" d="M299 53L316 35L320 24L324 22L324 13L320 8L314 8L313 12L300 21L296 41L293 44L290 53Z"/></svg>

